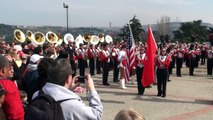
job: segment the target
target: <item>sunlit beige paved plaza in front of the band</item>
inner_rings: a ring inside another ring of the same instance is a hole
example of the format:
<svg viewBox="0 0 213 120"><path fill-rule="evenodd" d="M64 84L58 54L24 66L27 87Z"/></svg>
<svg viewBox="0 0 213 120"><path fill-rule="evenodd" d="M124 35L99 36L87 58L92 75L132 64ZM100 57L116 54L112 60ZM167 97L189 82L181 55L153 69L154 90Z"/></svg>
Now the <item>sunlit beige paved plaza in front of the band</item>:
<svg viewBox="0 0 213 120"><path fill-rule="evenodd" d="M176 77L175 69L167 84L166 98L157 97L157 86L146 88L143 96L137 95L137 85L127 84L127 89L119 88L119 83L102 85L102 75L95 75L96 89L104 106L103 120L113 120L125 108L133 108L146 120L213 120L213 76L207 76L206 66L195 68L194 76L183 68L182 77ZM135 81L136 82L136 81ZM85 93L80 96L86 101Z"/></svg>

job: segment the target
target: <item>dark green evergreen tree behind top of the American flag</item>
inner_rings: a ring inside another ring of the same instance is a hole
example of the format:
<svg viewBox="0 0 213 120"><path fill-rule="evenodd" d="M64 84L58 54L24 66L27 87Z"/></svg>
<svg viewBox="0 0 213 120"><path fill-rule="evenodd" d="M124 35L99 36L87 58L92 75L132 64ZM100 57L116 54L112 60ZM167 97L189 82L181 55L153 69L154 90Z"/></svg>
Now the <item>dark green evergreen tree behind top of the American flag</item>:
<svg viewBox="0 0 213 120"><path fill-rule="evenodd" d="M144 30L142 28L142 25L140 23L140 20L138 20L136 18L136 16L134 16L131 20L130 20L130 26L132 29L132 34L134 36L135 42L139 42L142 41L142 35L144 33ZM128 36L128 30L129 30L129 26L128 24L126 24L121 31L123 32L123 34L121 34L121 36L123 37L123 39L125 40Z"/></svg>

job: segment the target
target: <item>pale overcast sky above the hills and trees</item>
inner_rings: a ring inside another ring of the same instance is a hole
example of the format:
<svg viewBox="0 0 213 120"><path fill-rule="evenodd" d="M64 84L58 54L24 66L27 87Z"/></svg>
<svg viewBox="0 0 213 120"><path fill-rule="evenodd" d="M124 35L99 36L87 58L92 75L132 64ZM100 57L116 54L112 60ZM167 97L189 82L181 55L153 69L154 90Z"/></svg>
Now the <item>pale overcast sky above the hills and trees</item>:
<svg viewBox="0 0 213 120"><path fill-rule="evenodd" d="M120 27L136 15L142 25L161 16L172 22L203 20L213 23L213 0L0 0L0 23L11 25Z"/></svg>

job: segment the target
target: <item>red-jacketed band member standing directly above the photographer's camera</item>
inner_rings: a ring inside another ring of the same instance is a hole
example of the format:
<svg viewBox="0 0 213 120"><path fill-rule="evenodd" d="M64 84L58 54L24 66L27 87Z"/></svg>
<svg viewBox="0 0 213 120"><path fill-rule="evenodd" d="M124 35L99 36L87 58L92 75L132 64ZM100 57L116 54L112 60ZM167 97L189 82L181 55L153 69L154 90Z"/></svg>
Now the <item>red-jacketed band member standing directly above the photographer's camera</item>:
<svg viewBox="0 0 213 120"><path fill-rule="evenodd" d="M82 43L79 44L77 54L80 76L85 76L85 50Z"/></svg>

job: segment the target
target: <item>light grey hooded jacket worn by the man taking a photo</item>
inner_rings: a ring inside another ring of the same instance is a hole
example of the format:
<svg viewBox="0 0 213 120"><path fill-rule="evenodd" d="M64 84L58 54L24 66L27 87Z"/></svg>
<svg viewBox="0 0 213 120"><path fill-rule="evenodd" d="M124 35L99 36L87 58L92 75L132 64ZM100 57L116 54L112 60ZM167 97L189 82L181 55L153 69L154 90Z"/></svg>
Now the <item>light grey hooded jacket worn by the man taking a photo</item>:
<svg viewBox="0 0 213 120"><path fill-rule="evenodd" d="M45 94L53 97L55 101L66 100L61 103L65 120L100 120L103 106L97 91L90 92L87 96L89 106L86 106L80 96L71 90L52 83L46 83L42 88ZM35 98L36 92L33 95Z"/></svg>

